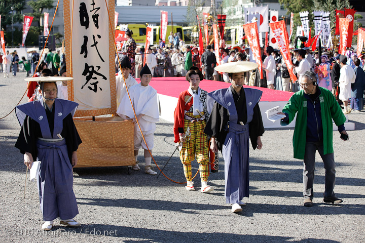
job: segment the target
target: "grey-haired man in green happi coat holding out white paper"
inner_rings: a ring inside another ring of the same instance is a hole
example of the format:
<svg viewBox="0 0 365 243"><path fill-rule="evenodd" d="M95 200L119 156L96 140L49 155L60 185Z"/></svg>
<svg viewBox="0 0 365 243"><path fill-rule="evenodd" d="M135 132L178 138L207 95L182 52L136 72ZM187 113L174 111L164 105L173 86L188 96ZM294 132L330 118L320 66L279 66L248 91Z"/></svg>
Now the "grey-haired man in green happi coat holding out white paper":
<svg viewBox="0 0 365 243"><path fill-rule="evenodd" d="M318 87L316 75L306 71L300 78L298 91L289 99L282 112L281 125L286 126L294 120L297 113L296 126L293 135L294 157L304 160L304 206L312 207L315 153L318 150L325 169L324 198L325 203L334 205L342 203L335 196L335 158L333 150L333 124L338 126L343 141L348 140L344 123L346 117L342 113L331 91Z"/></svg>

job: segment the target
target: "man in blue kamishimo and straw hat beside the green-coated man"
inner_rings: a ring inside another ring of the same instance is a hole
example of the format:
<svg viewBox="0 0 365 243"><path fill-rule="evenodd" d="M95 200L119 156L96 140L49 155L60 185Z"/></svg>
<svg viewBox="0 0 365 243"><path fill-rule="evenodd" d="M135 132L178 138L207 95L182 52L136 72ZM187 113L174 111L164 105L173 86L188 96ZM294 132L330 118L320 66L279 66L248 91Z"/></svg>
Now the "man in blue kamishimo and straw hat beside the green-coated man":
<svg viewBox="0 0 365 243"><path fill-rule="evenodd" d="M208 94L215 102L204 132L211 136L210 149L221 150L225 160L226 203L233 213L241 212L243 197L249 195L249 138L253 149L262 148L264 126L259 101L262 91L243 88L245 72L257 68L251 62L230 62L215 68L229 74L228 89Z"/></svg>

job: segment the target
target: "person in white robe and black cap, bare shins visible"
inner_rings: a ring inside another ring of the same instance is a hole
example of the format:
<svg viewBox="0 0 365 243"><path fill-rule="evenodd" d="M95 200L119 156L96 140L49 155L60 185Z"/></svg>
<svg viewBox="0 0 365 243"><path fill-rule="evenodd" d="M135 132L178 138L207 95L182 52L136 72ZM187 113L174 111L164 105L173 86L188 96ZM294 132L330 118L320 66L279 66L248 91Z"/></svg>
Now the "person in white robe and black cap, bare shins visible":
<svg viewBox="0 0 365 243"><path fill-rule="evenodd" d="M151 167L151 154L154 147L154 132L156 130L156 121L159 121L159 110L157 104L157 91L149 86L151 82L152 73L147 64L144 65L140 71L140 84L134 85L128 89L134 111L137 117L134 116L132 105L127 95L125 95L121 101L117 114L122 118L133 119L134 126L134 158L136 165L133 170L139 170L137 163L138 150L142 147L144 149L144 173L149 175L156 175ZM138 120L140 129L138 127L136 118ZM145 142L143 141L142 134ZM147 143L147 145L146 145ZM150 149L150 151L149 151Z"/></svg>

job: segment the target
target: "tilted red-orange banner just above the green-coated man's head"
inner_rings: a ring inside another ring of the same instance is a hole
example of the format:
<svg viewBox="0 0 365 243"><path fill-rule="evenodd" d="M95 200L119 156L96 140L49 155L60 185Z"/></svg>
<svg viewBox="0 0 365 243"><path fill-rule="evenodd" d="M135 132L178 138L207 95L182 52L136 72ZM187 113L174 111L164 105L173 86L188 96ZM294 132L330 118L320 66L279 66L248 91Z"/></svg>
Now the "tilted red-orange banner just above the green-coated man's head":
<svg viewBox="0 0 365 243"><path fill-rule="evenodd" d="M293 63L291 62L290 50L289 50L289 39L286 32L286 25L283 20L269 23L270 28L273 31L274 37L276 39L276 43L278 44L279 50L281 52L282 58L287 66L287 69L290 74L291 82L295 82L297 80L296 75L293 71Z"/></svg>

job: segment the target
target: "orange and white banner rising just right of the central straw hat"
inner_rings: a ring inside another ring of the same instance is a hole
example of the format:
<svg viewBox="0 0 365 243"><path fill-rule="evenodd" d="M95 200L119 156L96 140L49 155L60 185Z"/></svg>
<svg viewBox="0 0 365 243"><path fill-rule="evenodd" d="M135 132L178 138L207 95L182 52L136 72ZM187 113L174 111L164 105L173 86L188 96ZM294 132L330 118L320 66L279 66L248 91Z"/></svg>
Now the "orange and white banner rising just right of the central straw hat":
<svg viewBox="0 0 365 243"><path fill-rule="evenodd" d="M273 24L276 24L275 22ZM262 59L261 59L261 48L260 48L260 40L259 40L259 30L257 27L257 23L249 23L243 25L243 30L245 32L245 36L248 41L248 45L252 50L252 55L256 60L256 63L259 65L261 78L264 76L262 71Z"/></svg>

